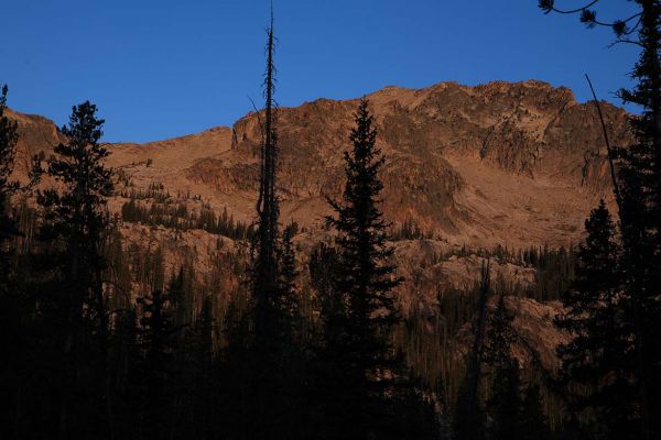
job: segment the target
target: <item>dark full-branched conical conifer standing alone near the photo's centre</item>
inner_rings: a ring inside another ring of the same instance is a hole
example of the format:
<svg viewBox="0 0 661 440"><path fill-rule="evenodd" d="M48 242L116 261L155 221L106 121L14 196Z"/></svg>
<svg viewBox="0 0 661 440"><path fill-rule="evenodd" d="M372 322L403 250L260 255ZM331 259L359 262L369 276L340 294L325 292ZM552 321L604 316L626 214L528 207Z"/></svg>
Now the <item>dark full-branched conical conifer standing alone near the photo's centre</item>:
<svg viewBox="0 0 661 440"><path fill-rule="evenodd" d="M344 156L343 198L328 200L336 217L328 217L327 223L337 231L338 248L333 295L342 308L323 317L328 326L326 350L332 353L327 358L337 365L330 384L337 400L328 409L344 438L367 438L379 430L380 404L401 367L390 342L399 320L392 289L400 279L389 263L393 249L387 244L388 224L378 208L384 157L376 146L368 105L362 99L355 116L353 148Z"/></svg>

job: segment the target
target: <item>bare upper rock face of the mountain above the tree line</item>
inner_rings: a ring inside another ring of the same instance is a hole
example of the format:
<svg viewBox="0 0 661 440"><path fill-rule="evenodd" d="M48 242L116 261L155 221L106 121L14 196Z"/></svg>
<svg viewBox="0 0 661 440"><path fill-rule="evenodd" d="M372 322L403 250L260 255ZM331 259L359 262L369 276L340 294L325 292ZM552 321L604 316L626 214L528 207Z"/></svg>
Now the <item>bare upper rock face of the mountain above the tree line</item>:
<svg viewBox="0 0 661 440"><path fill-rule="evenodd" d="M388 162L383 210L415 221L449 244L513 248L579 240L600 197L610 199L603 133L594 103L539 81L426 89L388 87L369 95ZM338 197L343 152L356 100L319 99L279 110L282 218L315 228ZM615 144L627 114L604 103ZM253 217L259 118L231 129L148 144L111 146L110 165L138 187L162 183L215 209ZM147 161L151 166L147 167Z"/></svg>

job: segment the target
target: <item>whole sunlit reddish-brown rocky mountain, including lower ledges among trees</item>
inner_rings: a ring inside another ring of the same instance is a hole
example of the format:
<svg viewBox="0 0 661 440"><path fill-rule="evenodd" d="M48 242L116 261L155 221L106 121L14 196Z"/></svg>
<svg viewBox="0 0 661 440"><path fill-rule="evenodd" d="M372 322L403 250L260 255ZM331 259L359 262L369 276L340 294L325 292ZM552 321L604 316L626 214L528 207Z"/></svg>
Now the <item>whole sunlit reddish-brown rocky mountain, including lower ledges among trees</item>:
<svg viewBox="0 0 661 440"><path fill-rule="evenodd" d="M440 293L469 289L483 263L478 249L507 248L505 256L492 262L494 278L506 293L529 292L540 282L539 268L524 264L518 250L577 243L598 199L613 200L596 108L577 102L566 88L535 80L476 87L442 82L424 89L387 87L368 98L378 145L387 156L386 217L393 229L414 224L426 237L395 243L394 257L405 276L400 289L405 310L434 315ZM340 195L343 152L349 147L357 102L318 99L278 110L281 219L302 228L296 237L302 263L326 235L326 197ZM602 106L614 144L626 145L631 139L628 114L609 103ZM19 122L18 174L24 175L29 157L40 152L47 156L62 134L45 118L9 114ZM119 213L133 198L144 207L178 205L188 212L213 210L216 216L226 211L250 223L260 140L259 114L251 112L231 128L145 144L111 144L108 165L117 169L119 180L109 207ZM121 233L127 246L160 248L172 267L188 262L203 275L213 270L218 252L241 248L240 242L199 229L124 221ZM542 327L552 329L549 314L538 310L541 305L511 301L519 316L543 315ZM543 307L556 310L559 305ZM533 318L522 328L541 326ZM552 343L529 342L552 364Z"/></svg>

